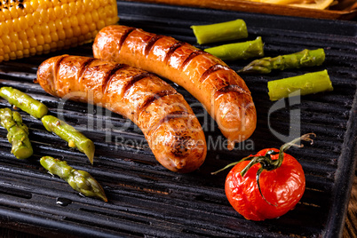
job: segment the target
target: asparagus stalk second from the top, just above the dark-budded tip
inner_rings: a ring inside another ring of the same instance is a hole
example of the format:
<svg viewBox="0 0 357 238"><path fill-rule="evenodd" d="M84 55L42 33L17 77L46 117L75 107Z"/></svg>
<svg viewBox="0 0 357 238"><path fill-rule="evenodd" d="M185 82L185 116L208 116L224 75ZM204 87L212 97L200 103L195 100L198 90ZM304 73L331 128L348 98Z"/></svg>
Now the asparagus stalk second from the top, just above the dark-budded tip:
<svg viewBox="0 0 357 238"><path fill-rule="evenodd" d="M223 44L204 50L222 60L249 59L264 56L264 44L260 36L254 41Z"/></svg>

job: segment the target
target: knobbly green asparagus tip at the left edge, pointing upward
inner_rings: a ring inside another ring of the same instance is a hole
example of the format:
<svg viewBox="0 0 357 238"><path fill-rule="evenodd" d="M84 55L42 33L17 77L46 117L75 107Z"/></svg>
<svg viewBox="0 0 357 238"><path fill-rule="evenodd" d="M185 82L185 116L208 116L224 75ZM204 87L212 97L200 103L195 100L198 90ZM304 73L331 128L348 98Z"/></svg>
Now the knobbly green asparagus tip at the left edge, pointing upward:
<svg viewBox="0 0 357 238"><path fill-rule="evenodd" d="M28 139L28 127L22 123L20 113L1 108L0 123L8 131L7 139L12 144L12 154L22 160L31 156L33 149Z"/></svg>

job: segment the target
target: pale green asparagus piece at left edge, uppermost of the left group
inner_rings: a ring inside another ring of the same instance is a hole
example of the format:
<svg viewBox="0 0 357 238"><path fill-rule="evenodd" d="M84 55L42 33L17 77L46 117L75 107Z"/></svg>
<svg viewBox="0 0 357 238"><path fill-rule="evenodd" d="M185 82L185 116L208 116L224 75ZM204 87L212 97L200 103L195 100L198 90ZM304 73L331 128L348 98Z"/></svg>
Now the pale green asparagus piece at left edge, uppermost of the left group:
<svg viewBox="0 0 357 238"><path fill-rule="evenodd" d="M36 118L41 118L48 112L48 108L42 102L12 87L2 87L0 97Z"/></svg>

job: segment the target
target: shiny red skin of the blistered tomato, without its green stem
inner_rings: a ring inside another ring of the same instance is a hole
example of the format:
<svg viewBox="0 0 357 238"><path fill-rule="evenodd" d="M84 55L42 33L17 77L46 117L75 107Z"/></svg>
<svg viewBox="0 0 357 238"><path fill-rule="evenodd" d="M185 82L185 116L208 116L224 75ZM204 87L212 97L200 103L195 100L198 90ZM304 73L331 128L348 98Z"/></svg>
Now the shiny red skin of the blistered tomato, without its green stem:
<svg viewBox="0 0 357 238"><path fill-rule="evenodd" d="M268 150L279 152L275 148L266 148L254 156L264 156ZM272 159L276 160L278 156L272 155ZM248 163L237 163L226 177L226 197L234 210L244 218L258 221L279 218L294 209L305 191L305 175L301 164L293 156L284 153L279 168L263 171L259 184L266 198L264 200L257 183L257 171L261 165L253 165L243 177L240 174Z"/></svg>

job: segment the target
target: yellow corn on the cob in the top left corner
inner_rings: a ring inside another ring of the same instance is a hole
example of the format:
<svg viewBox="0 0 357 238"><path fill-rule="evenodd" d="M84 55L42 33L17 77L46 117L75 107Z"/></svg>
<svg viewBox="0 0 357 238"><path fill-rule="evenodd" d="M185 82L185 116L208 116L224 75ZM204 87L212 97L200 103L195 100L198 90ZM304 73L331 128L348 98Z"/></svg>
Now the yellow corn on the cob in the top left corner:
<svg viewBox="0 0 357 238"><path fill-rule="evenodd" d="M0 62L89 43L117 14L115 0L0 1Z"/></svg>

